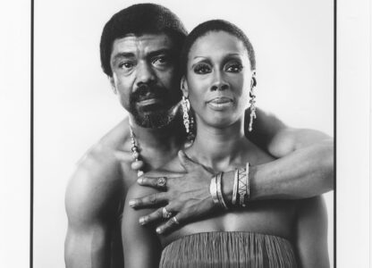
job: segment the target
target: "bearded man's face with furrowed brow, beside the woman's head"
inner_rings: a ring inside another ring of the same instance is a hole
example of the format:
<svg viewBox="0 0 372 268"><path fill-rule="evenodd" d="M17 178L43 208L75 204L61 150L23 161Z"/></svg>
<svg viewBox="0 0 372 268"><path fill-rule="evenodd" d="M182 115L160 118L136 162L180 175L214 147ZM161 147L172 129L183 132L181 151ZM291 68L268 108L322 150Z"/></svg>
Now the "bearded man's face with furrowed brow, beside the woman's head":
<svg viewBox="0 0 372 268"><path fill-rule="evenodd" d="M173 120L181 97L174 51L164 33L114 40L110 81L123 107L142 127L161 128Z"/></svg>

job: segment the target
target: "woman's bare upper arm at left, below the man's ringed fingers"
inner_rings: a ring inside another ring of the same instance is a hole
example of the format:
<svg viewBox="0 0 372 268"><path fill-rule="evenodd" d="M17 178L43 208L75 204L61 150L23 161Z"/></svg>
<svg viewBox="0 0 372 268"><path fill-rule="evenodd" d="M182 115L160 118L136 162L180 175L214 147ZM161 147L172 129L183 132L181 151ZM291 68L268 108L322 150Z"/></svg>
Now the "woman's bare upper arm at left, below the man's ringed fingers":
<svg viewBox="0 0 372 268"><path fill-rule="evenodd" d="M133 185L127 194L122 220L122 240L125 268L157 267L162 247L156 237L154 226L142 226L139 217L150 214L153 209L134 210L128 205L130 199L153 193L151 188Z"/></svg>

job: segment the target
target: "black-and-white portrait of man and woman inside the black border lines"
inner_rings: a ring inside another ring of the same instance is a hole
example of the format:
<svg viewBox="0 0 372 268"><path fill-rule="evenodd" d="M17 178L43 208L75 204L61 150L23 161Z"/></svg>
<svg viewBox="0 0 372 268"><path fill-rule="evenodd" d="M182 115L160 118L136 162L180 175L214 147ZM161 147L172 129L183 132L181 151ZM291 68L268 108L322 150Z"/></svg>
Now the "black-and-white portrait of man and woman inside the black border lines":
<svg viewBox="0 0 372 268"><path fill-rule="evenodd" d="M30 265L335 267L334 4L34 1Z"/></svg>

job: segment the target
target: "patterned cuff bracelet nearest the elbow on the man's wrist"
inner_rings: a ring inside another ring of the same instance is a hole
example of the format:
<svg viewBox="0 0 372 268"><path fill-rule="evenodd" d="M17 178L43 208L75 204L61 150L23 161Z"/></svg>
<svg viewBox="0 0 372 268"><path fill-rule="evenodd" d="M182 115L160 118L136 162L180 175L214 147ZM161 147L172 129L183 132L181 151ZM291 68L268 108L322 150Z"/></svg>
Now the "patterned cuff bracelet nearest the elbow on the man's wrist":
<svg viewBox="0 0 372 268"><path fill-rule="evenodd" d="M233 188L232 188L232 205L246 206L249 202L249 163L245 168L235 170Z"/></svg>

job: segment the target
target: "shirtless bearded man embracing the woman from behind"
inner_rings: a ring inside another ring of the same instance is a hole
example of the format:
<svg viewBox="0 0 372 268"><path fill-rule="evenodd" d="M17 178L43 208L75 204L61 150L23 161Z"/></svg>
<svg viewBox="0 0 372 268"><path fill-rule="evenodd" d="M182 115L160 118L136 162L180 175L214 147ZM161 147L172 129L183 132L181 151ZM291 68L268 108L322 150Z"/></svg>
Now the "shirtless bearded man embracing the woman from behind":
<svg viewBox="0 0 372 268"><path fill-rule="evenodd" d="M129 118L108 132L78 163L66 191L69 225L65 241L67 267L123 267L120 222L135 170L154 170L173 159L185 143L179 112L181 97L178 55L186 37L182 22L156 4L135 4L106 23L100 51L103 70ZM333 187L333 142L314 130L287 128L258 110L249 138L271 155L273 163L251 167L251 199L306 198ZM216 207L197 204L196 193L209 195L213 172L179 153L186 174L147 173L139 183L165 187L163 195L131 200L132 206L178 204L179 221L192 221ZM132 162L132 157L136 162ZM144 164L144 165L143 165ZM133 169L132 169L132 168ZM232 196L224 176L223 194ZM177 177L177 178L173 178ZM182 181L188 180L187 186ZM141 219L155 221L161 214ZM158 231L171 230L165 222Z"/></svg>

